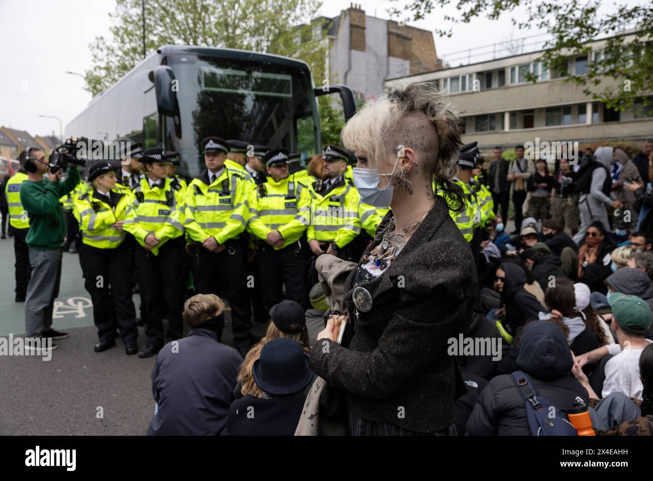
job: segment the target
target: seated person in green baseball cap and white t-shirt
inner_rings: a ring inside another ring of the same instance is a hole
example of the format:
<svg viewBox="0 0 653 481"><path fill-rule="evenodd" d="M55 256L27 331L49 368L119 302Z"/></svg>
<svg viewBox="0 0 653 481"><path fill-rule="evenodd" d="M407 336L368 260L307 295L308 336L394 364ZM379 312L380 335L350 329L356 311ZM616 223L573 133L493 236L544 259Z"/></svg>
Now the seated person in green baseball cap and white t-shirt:
<svg viewBox="0 0 653 481"><path fill-rule="evenodd" d="M618 344L608 344L581 354L577 356L577 361L582 367L586 363L596 364L604 356L613 356L605 363L601 396L620 392L642 399L643 386L637 366L642 350L651 342L646 339L646 331L651 325L651 309L635 295L616 292L608 300L613 308L612 327Z"/></svg>

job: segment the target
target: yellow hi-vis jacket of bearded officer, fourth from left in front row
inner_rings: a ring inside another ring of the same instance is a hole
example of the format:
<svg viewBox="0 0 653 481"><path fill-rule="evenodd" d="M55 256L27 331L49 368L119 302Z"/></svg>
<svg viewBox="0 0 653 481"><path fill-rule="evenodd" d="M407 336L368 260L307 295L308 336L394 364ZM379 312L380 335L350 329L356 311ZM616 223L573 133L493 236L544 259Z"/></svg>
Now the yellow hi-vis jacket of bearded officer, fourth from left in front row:
<svg viewBox="0 0 653 481"><path fill-rule="evenodd" d="M291 176L292 177L292 176ZM268 233L279 231L283 237L281 250L302 237L311 220L311 191L291 178L267 182L251 190L247 230L265 240Z"/></svg>

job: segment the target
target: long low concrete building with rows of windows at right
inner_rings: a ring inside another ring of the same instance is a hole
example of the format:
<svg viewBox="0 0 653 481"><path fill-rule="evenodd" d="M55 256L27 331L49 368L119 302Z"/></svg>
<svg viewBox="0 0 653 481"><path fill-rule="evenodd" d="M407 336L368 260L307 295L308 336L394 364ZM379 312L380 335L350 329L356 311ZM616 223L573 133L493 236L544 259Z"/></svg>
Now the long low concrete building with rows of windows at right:
<svg viewBox="0 0 653 481"><path fill-rule="evenodd" d="M592 56L569 58L568 70L582 74L588 61L601 56L605 41L592 44ZM548 71L538 60L541 51L497 58L421 75L404 76L386 82L434 82L449 91L451 101L464 116L464 142L478 141L481 148L496 145L512 148L524 142L641 141L653 137L653 108L617 112L583 93L583 87L558 72ZM529 82L530 72L537 82ZM607 86L623 88L622 82L603 78L599 92Z"/></svg>

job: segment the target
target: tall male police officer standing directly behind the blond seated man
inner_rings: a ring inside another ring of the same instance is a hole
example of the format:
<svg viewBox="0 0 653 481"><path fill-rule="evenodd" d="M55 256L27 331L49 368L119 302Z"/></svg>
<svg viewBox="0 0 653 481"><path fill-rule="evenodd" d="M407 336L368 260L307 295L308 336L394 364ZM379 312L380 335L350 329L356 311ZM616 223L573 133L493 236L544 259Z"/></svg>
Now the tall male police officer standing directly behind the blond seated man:
<svg viewBox="0 0 653 481"><path fill-rule="evenodd" d="M191 180L185 197L185 224L195 241L193 278L199 293L229 300L234 345L244 356L251 337L246 284L249 218L247 195L253 183L240 169L225 164L229 144L219 137L202 140L206 171Z"/></svg>

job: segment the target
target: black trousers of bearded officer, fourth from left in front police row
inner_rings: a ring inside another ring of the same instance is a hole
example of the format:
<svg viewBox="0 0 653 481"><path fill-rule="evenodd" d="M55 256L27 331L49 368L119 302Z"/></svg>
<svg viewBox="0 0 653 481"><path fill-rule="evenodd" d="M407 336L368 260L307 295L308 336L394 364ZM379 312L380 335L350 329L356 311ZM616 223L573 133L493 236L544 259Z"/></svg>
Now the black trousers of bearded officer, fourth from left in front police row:
<svg viewBox="0 0 653 481"><path fill-rule="evenodd" d="M281 287L285 285L286 298L309 308L306 282L306 257L298 242L275 250L270 245L261 248L259 278L263 307L267 312L283 301Z"/></svg>

